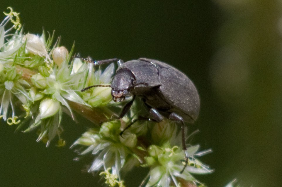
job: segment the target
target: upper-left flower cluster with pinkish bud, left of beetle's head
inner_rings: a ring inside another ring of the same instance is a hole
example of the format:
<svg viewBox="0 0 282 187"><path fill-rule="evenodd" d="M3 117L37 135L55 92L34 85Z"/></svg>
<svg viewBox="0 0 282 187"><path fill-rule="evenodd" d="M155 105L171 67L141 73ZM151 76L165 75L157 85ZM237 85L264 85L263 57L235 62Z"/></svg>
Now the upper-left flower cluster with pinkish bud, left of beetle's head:
<svg viewBox="0 0 282 187"><path fill-rule="evenodd" d="M89 108L108 103L109 93L102 94L105 99L99 97L101 91L93 91L87 99L84 94L83 99L80 90L98 82L97 77L109 83L113 66L102 73L94 72L91 64L77 58L69 64L73 48L69 53L64 46L59 47L60 38L51 47L54 35L49 34L45 40L44 32L41 36L23 34L18 13L8 9L10 13L5 13L7 16L0 24L0 116L8 124L20 124L18 129L28 124L24 132L37 129L37 141L46 146L58 135L58 146L63 146L62 112L74 119L71 102ZM6 30L9 21L13 26ZM9 34L13 28L17 28L16 32ZM15 105L26 114L16 115Z"/></svg>

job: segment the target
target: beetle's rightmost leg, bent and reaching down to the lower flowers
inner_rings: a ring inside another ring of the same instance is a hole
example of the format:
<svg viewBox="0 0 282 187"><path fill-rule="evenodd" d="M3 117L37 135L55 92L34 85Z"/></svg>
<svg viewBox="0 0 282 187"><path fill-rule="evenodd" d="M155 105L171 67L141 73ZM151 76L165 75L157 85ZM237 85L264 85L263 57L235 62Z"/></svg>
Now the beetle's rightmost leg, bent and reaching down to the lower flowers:
<svg viewBox="0 0 282 187"><path fill-rule="evenodd" d="M185 165L184 165L184 168L180 172L181 174L184 172L184 169L187 167L187 164L188 164L188 154L187 154L187 147L186 147L186 141L185 141L185 124L184 124L183 118L174 112L172 112L169 115L169 119L174 120L176 122L181 122L182 149L184 150L184 153L185 153Z"/></svg>

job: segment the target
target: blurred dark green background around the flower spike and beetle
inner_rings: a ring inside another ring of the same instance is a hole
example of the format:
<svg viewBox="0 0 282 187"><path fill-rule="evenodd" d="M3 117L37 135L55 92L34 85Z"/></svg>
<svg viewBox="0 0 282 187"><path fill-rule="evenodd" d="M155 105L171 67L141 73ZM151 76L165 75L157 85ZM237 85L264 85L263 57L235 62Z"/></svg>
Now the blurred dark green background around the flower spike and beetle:
<svg viewBox="0 0 282 187"><path fill-rule="evenodd" d="M193 139L213 153L200 160L215 169L196 176L208 186L237 178L244 186L282 184L282 3L214 1L7 1L24 32L42 28L68 49L94 59L154 58L183 71L201 97ZM1 20L4 15L0 15ZM0 125L0 186L101 186L74 162L69 146L90 126L64 116L67 146L45 148L36 134ZM147 170L134 169L127 186Z"/></svg>

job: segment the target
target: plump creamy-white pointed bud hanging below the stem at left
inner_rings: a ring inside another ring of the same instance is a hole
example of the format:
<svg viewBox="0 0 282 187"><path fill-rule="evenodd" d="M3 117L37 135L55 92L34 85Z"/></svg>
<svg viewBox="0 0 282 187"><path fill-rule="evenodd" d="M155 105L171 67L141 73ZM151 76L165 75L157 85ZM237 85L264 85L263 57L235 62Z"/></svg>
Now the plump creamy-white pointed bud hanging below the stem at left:
<svg viewBox="0 0 282 187"><path fill-rule="evenodd" d="M40 118L44 119L55 115L60 108L60 102L50 98L41 101L39 105Z"/></svg>

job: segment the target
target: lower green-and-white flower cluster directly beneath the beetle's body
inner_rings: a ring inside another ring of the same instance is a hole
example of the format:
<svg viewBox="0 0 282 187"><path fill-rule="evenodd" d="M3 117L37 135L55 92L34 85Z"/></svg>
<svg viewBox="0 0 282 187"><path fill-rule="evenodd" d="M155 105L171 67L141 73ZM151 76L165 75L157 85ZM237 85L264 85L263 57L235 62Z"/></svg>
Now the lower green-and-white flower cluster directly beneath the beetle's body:
<svg viewBox="0 0 282 187"><path fill-rule="evenodd" d="M120 136L120 132L124 129L121 121L105 122L100 129L90 129L72 145L84 147L83 150L78 150L80 155L88 153L95 155L89 172L104 170L107 173L105 179L111 180L111 182L108 181L111 183L110 186L120 186L123 185L120 171L128 171L129 168L125 165L130 160L131 167L137 162L142 167L150 167L149 174L140 186L180 186L183 181L188 181L194 186L204 186L192 174L213 172L213 169L209 169L197 159L198 156L209 152L209 150L197 152L199 146L189 146L186 150L188 166L183 173L180 173L184 168L185 154L181 148L176 146L181 144L175 144L176 142L180 143L181 139L176 133L177 128L174 122L168 120L160 123L150 122L149 131L142 130L148 126L147 122L137 122ZM161 145L152 144L146 148L138 142L138 139L142 139L143 143L146 140L145 144L155 142Z"/></svg>

